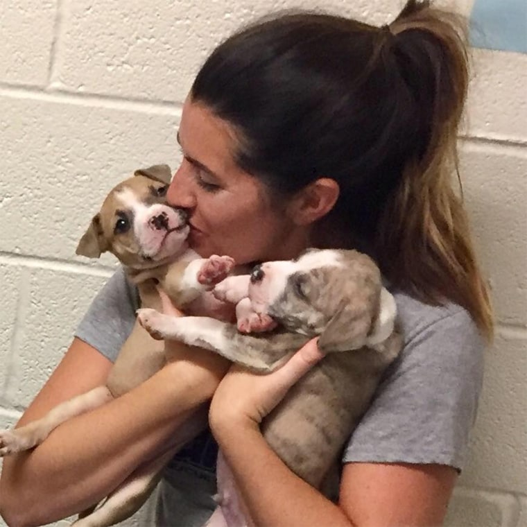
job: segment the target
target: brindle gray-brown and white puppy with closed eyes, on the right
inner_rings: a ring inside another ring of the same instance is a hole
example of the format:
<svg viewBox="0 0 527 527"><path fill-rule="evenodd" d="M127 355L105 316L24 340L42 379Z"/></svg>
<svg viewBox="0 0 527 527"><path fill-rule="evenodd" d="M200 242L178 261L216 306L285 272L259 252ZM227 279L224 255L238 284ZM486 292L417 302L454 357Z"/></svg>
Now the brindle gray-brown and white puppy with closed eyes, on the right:
<svg viewBox="0 0 527 527"><path fill-rule="evenodd" d="M237 304L238 327L154 309L139 310L138 320L154 338L205 347L262 373L319 336L327 356L289 390L262 431L293 472L320 488L401 350L395 300L379 269L353 250L309 250L295 261L268 262L252 275L227 277L213 292ZM245 525L221 456L218 494L220 507L207 525Z"/></svg>

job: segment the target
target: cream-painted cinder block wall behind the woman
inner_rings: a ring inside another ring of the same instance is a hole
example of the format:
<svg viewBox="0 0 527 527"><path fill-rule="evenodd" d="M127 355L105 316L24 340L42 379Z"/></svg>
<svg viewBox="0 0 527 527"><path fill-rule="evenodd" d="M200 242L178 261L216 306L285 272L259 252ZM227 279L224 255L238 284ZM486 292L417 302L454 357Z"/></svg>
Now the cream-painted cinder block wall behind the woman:
<svg viewBox="0 0 527 527"><path fill-rule="evenodd" d="M42 386L112 273L110 258L74 256L101 198L138 166L177 164L182 101L214 44L300 4L383 24L401 0L3 0L0 426ZM467 14L472 0L453 5ZM474 50L462 175L498 331L451 526L527 525L526 85L527 55Z"/></svg>

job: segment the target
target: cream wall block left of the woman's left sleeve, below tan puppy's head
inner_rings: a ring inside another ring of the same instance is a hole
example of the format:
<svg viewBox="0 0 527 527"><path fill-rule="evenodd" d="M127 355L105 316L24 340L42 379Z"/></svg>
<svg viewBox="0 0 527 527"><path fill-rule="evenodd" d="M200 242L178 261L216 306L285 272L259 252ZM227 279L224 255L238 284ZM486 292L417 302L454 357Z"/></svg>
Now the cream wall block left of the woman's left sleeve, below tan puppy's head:
<svg viewBox="0 0 527 527"><path fill-rule="evenodd" d="M105 281L100 276L31 269L30 302L19 322L24 337L14 350L6 387L8 403L28 406L66 352L80 318Z"/></svg>

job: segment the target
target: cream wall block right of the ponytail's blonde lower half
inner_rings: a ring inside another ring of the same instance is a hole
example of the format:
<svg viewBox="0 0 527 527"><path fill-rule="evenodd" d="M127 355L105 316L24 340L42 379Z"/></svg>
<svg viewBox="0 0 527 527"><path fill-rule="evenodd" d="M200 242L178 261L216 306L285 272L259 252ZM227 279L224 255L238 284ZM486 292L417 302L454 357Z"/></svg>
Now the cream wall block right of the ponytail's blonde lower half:
<svg viewBox="0 0 527 527"><path fill-rule="evenodd" d="M527 150L465 141L465 202L496 317L527 326Z"/></svg>

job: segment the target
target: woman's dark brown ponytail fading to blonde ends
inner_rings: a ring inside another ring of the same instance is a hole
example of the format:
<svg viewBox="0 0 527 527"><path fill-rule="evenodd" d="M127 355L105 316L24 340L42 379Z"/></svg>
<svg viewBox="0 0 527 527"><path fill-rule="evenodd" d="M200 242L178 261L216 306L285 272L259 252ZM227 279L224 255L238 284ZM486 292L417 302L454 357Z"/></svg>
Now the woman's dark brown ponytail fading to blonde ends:
<svg viewBox="0 0 527 527"><path fill-rule="evenodd" d="M379 218L376 253L384 273L428 302L452 300L492 338L492 309L476 264L458 174L457 132L467 95L466 34L460 20L428 1L410 0L388 26L383 46L427 121L422 152L406 162ZM426 93L424 93L426 92Z"/></svg>

